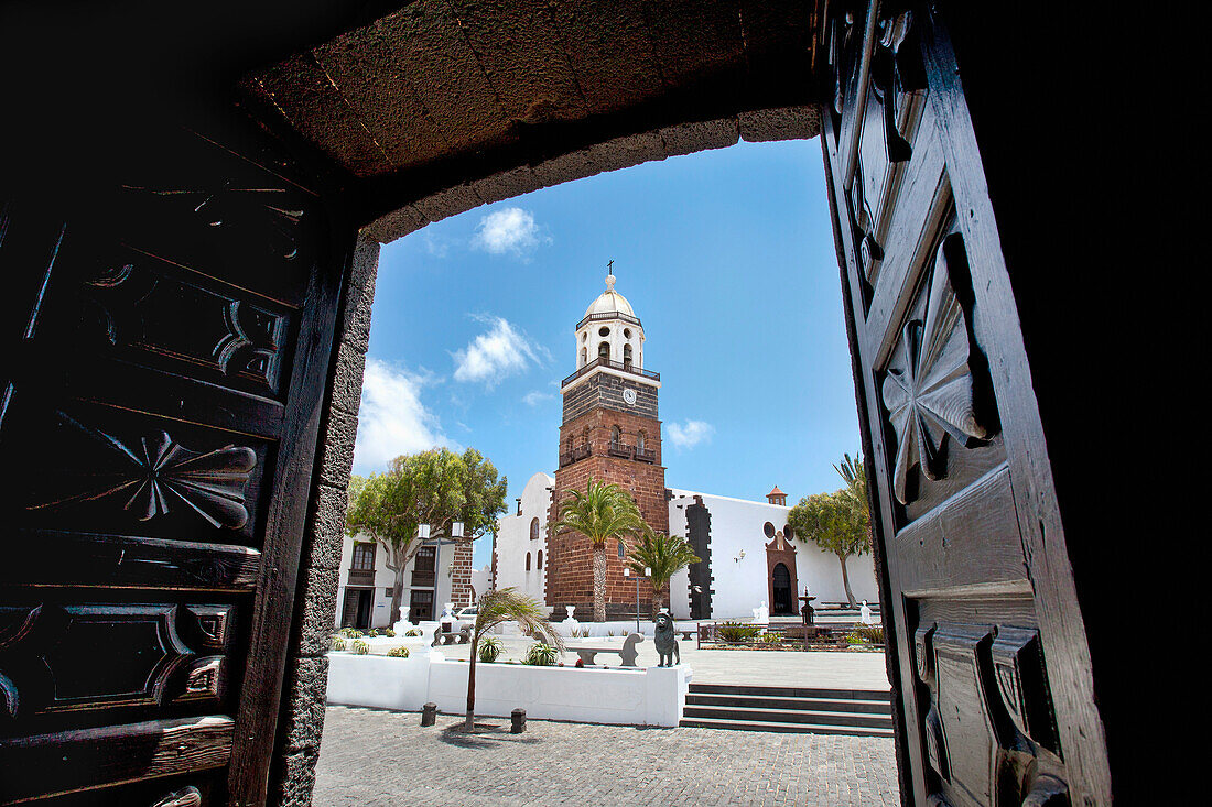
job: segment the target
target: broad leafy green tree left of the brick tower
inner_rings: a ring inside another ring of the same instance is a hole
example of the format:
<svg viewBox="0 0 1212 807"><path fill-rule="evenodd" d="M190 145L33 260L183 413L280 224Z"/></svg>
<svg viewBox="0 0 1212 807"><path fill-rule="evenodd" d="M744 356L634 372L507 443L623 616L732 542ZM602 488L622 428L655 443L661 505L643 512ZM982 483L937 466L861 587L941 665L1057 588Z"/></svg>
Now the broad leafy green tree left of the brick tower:
<svg viewBox="0 0 1212 807"><path fill-rule="evenodd" d="M451 525L463 522L463 540L473 542L493 531L505 511L507 480L475 448L456 454L434 448L391 460L385 474L355 476L349 482L345 532L375 539L395 574L391 585L391 624L400 620L404 573L421 542L417 527L429 525L434 538L448 537Z"/></svg>

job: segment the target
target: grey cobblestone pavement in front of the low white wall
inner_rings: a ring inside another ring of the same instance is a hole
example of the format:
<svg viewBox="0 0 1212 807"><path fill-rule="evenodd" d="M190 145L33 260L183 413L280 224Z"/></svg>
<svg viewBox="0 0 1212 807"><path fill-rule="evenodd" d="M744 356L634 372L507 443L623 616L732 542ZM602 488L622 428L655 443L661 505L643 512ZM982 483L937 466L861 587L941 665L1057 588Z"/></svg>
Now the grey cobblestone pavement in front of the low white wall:
<svg viewBox="0 0 1212 807"><path fill-rule="evenodd" d="M314 803L898 805L892 740L532 720L465 736L439 715L328 706Z"/></svg>

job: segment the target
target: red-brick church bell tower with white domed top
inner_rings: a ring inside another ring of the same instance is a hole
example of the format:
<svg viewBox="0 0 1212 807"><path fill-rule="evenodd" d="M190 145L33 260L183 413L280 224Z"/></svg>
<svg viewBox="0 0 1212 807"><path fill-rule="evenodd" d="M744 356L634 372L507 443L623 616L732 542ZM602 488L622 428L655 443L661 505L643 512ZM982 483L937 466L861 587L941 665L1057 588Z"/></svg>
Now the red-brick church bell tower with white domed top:
<svg viewBox="0 0 1212 807"><path fill-rule="evenodd" d="M613 262L612 262L613 263ZM661 374L644 368L644 325L631 304L614 291L613 271L604 291L577 322L576 372L560 384L560 467L551 487L548 523L559 517L566 491L585 490L589 480L614 482L635 499L657 532L669 531L665 469L661 464L657 393ZM581 533L548 533L547 603L554 619L565 606L577 618L593 618L593 546ZM606 618L635 613L635 583L623 577L633 539L606 546ZM640 589L640 612L650 613L651 588Z"/></svg>

